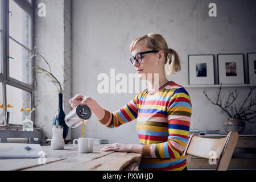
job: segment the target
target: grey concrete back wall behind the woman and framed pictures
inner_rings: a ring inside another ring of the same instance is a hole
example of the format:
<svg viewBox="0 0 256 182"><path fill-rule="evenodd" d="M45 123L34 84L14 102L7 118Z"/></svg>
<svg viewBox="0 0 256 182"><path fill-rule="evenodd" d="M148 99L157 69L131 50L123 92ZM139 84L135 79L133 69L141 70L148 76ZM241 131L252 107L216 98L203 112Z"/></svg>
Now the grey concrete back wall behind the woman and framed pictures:
<svg viewBox="0 0 256 182"><path fill-rule="evenodd" d="M188 84L188 55L256 52L255 1L214 1L217 17L208 16L213 1L129 0L73 1L73 95L90 96L109 111L118 110L134 94L100 94L97 76L110 69L117 73L135 73L129 58L133 39L149 32L166 38L181 58L181 71L168 77L181 85ZM217 59L216 59L217 61ZM245 61L246 56L245 56ZM117 81L115 82L117 84ZM229 89L224 88L224 94ZM222 129L226 116L210 104L203 88L187 89L192 99L191 129ZM243 97L248 88L238 88ZM209 88L214 96L216 88ZM81 135L81 127L73 130ZM255 134L256 123L246 123L243 134ZM86 122L85 136L106 138L110 142L138 143L136 121L117 129L107 129L93 115Z"/></svg>

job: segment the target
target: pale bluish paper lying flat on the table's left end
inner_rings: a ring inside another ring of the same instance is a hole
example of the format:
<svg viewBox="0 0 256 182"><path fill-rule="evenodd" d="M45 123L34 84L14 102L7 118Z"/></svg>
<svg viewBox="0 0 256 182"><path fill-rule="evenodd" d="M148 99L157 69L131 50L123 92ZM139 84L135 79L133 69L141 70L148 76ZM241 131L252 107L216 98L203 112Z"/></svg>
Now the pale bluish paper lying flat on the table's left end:
<svg viewBox="0 0 256 182"><path fill-rule="evenodd" d="M0 159L40 158L42 151L40 144L0 143Z"/></svg>

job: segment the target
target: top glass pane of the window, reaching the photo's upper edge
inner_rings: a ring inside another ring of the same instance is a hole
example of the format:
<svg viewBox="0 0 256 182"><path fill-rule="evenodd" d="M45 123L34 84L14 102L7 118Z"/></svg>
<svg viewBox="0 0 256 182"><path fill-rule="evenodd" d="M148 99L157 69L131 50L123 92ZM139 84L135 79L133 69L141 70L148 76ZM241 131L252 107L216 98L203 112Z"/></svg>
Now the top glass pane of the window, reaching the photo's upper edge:
<svg viewBox="0 0 256 182"><path fill-rule="evenodd" d="M31 17L13 0L9 1L10 36L31 49Z"/></svg>

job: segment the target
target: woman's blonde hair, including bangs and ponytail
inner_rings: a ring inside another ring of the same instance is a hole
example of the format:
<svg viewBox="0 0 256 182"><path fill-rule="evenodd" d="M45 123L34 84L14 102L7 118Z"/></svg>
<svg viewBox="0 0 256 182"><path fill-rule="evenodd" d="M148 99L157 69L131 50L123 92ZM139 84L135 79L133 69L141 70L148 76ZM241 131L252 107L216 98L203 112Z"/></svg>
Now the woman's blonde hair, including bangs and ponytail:
<svg viewBox="0 0 256 182"><path fill-rule="evenodd" d="M146 47L152 50L163 50L164 52L164 73L166 76L180 71L180 58L174 49L168 48L166 40L160 34L150 33L134 39L130 45L130 52L139 43L146 43Z"/></svg>

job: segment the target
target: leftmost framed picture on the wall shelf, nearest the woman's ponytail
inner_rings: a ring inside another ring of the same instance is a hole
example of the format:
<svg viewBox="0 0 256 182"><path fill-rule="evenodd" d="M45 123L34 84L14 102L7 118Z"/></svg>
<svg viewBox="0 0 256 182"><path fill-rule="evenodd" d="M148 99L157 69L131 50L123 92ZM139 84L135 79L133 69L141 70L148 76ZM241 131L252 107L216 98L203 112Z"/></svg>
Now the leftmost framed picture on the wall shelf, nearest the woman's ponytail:
<svg viewBox="0 0 256 182"><path fill-rule="evenodd" d="M188 55L188 84L214 85L214 55Z"/></svg>

